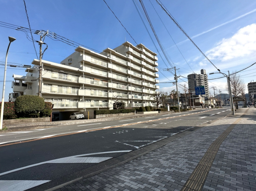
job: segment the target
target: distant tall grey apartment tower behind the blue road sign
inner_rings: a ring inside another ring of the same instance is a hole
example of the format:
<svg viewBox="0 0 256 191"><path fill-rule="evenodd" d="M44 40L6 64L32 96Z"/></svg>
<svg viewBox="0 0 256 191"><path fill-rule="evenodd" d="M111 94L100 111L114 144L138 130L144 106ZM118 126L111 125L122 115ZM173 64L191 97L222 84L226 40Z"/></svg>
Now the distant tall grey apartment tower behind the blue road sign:
<svg viewBox="0 0 256 191"><path fill-rule="evenodd" d="M204 86L205 95L202 97L209 97L208 76L204 69L201 69L201 74L192 73L188 75L189 89L195 89L197 86Z"/></svg>

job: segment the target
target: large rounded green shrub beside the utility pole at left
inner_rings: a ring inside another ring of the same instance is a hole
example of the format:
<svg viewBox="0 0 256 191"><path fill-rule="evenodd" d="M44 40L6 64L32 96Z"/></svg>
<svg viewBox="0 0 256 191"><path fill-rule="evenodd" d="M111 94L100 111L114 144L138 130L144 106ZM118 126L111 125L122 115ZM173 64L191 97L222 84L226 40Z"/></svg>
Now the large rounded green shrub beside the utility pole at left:
<svg viewBox="0 0 256 191"><path fill-rule="evenodd" d="M44 109L44 98L37 95L21 95L16 98L16 113L37 113Z"/></svg>

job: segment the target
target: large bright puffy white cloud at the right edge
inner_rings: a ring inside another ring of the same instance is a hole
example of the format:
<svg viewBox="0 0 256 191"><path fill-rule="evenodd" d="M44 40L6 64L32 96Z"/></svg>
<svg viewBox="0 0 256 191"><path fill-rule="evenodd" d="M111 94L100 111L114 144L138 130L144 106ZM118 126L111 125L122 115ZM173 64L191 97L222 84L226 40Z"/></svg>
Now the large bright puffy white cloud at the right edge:
<svg viewBox="0 0 256 191"><path fill-rule="evenodd" d="M256 52L256 24L238 30L231 38L224 38L206 52L210 60L227 61L250 56ZM200 64L199 64L200 65Z"/></svg>

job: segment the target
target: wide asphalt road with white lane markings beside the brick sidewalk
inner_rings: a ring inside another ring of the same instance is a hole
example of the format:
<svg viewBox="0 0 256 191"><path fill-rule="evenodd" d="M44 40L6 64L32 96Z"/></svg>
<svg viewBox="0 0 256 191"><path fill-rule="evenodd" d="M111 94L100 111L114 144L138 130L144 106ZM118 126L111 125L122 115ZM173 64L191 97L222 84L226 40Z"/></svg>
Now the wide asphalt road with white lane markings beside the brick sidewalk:
<svg viewBox="0 0 256 191"><path fill-rule="evenodd" d="M49 184L227 114L228 107L2 133L0 188Z"/></svg>

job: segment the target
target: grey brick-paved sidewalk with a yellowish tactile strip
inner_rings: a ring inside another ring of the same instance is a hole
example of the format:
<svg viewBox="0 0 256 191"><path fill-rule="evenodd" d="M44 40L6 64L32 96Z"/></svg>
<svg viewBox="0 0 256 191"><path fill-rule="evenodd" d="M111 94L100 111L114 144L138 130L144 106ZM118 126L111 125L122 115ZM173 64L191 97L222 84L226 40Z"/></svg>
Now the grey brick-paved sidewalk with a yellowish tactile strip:
<svg viewBox="0 0 256 191"><path fill-rule="evenodd" d="M239 109L236 116L57 190L256 190L255 127L256 109Z"/></svg>

